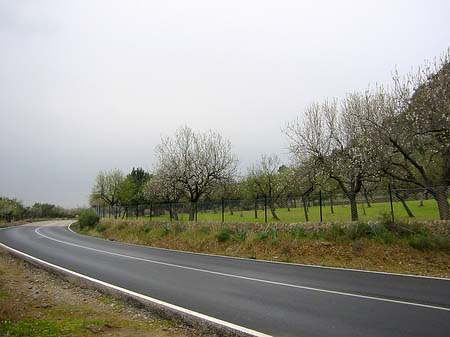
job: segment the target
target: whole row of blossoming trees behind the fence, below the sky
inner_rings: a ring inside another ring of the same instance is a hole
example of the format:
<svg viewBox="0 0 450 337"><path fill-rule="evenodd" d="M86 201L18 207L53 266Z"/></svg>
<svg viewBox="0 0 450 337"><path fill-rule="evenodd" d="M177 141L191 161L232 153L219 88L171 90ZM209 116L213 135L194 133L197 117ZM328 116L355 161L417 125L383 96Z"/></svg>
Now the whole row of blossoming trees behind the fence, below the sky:
<svg viewBox="0 0 450 337"><path fill-rule="evenodd" d="M309 105L286 125L293 161L263 156L237 176L231 143L219 133L182 127L156 147L153 172L100 172L91 205L129 205L266 196L272 216L289 196L340 190L358 219L356 197L386 186L420 187L450 219L450 52L405 77L342 99ZM194 219L194 208L190 219Z"/></svg>

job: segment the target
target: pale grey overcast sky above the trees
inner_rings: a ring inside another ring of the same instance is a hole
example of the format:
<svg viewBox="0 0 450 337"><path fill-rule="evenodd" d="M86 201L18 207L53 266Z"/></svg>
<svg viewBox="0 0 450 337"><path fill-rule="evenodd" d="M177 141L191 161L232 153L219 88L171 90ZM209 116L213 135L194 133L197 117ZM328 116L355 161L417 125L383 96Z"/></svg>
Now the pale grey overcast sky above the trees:
<svg viewBox="0 0 450 337"><path fill-rule="evenodd" d="M98 171L152 169L182 125L229 138L242 172L287 160L307 104L449 45L448 0L0 0L0 195L87 205Z"/></svg>

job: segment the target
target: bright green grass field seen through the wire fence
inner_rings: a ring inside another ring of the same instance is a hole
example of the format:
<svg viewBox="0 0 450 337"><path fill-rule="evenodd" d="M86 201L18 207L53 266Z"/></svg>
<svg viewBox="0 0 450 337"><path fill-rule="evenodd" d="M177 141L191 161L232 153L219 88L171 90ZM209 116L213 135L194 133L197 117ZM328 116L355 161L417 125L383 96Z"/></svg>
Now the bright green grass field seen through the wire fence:
<svg viewBox="0 0 450 337"><path fill-rule="evenodd" d="M414 217L408 217L401 202L394 202L394 218L395 220L438 220L439 212L437 204L434 200L424 200L423 206L420 205L419 200L406 201L409 209L413 213ZM176 207L174 207L176 209ZM148 212L148 211L147 211ZM163 214L158 216L152 216L154 221L170 221L168 207ZM177 210L178 220L187 221L189 220L189 214L186 209L179 208ZM267 209L267 221L268 222L284 222L284 223L295 223L295 222L305 222L305 213L303 207L297 208L277 208L276 213L280 220L275 220L269 209ZM130 210L129 218L135 218L133 216L134 212ZM358 215L359 220L379 220L382 217L390 216L391 208L389 202L378 202L372 203L371 207L362 202L358 203ZM264 209L259 208L257 211L257 218L255 218L254 210L239 210L239 208L234 208L231 213L228 207L225 207L225 221L226 222L253 222L253 223L264 223ZM318 222L320 221L320 207L312 206L308 208L309 221ZM140 217L140 219L149 219L149 216ZM333 213L329 205L322 207L322 221L323 222L342 222L350 221L351 212L349 205L334 205ZM215 211L202 211L199 209L197 214L197 221L199 222L221 222L222 214L220 208Z"/></svg>

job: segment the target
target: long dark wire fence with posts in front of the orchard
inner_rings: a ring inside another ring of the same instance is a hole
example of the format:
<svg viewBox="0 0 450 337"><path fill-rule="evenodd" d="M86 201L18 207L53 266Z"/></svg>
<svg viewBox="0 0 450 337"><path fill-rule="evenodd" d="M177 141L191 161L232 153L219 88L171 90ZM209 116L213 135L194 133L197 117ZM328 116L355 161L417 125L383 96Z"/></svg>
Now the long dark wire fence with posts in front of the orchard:
<svg viewBox="0 0 450 337"><path fill-rule="evenodd" d="M357 194L316 191L280 198L154 202L95 206L103 218L154 221L298 223L396 220L450 220L449 187L363 191Z"/></svg>

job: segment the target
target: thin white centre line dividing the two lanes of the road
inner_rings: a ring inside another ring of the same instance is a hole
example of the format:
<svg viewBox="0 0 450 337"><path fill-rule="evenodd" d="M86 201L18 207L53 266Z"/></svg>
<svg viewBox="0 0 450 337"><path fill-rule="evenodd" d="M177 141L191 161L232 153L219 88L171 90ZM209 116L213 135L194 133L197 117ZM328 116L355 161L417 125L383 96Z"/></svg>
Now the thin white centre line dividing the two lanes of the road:
<svg viewBox="0 0 450 337"><path fill-rule="evenodd" d="M382 298L382 297L374 297L374 296L352 294L352 293L347 293L347 292L341 292L341 291L335 291L335 290L327 290L327 289L314 288L314 287L307 287L307 286L301 286L301 285L290 284L290 283L283 283L283 282L277 282L277 281L269 281L269 280L263 280L263 279L253 278L253 277L221 273L221 272L212 271L212 270L187 267L187 266L177 265L177 264L173 264L173 263L167 263L167 262L155 261L155 260L150 260L150 259L144 259L144 258L140 258L140 257L136 257L136 256L129 256L129 255L124 255L124 254L119 254L119 253L113 253L113 252L109 252L109 251L106 251L106 250L86 247L86 246L78 245L78 244L75 244L75 243L71 243L71 242L67 242L67 241L51 238L51 237L49 237L49 236L47 236L45 234L40 233L39 229L41 229L41 228L42 227L36 228L34 231L36 232L36 234L38 234L38 235L40 235L40 236L42 236L42 237L44 237L44 238L46 238L48 240L56 241L56 242L59 242L59 243L62 243L62 244L66 244L66 245L69 245L69 246L74 246L74 247L78 247L78 248L82 248L82 249L86 249L86 250L96 251L96 252L103 253L103 254L109 254L109 255L113 255L113 256L119 256L119 257L123 257L123 258L128 258L128 259L132 259L132 260L138 260L138 261L143 261L143 262L148 262L148 263L153 263L153 264L158 264L158 265L163 265L163 266L168 266L168 267L173 267L173 268L180 268L180 269L185 269L185 270L191 270L191 271L196 271L196 272L201 272L201 273L206 273L206 274L213 274L213 275L231 277L231 278L236 278L236 279L241 279L241 280L246 280L246 281L253 281L253 282L259 282L259 283L265 283L265 284L272 284L272 285L277 285L277 286L282 286L282 287L297 288L297 289L304 289L304 290L309 290L309 291L317 291L317 292L322 292L322 293L327 293L327 294L334 294L334 295L341 295L341 296L363 298L363 299L369 299L369 300L381 301L381 302L389 302L389 303L395 303L395 304L410 305L410 306L422 307L422 308L428 308L428 309L434 309L434 310L450 311L450 308L446 308L446 307L439 307L439 306L428 305L428 304L421 304L421 303L415 303L415 302L399 301L399 300L393 300L393 299Z"/></svg>

